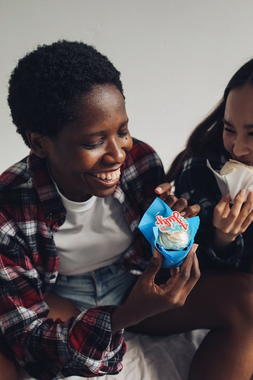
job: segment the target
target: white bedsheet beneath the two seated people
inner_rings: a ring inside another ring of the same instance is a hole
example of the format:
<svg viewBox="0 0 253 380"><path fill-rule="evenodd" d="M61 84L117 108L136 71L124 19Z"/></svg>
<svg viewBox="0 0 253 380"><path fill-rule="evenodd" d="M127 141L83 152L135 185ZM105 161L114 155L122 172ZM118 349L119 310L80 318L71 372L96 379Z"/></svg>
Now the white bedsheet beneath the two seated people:
<svg viewBox="0 0 253 380"><path fill-rule="evenodd" d="M208 330L195 330L167 337L125 332L127 350L117 375L90 380L186 380L192 357ZM81 380L70 376L65 380ZM26 376L25 380L33 380Z"/></svg>

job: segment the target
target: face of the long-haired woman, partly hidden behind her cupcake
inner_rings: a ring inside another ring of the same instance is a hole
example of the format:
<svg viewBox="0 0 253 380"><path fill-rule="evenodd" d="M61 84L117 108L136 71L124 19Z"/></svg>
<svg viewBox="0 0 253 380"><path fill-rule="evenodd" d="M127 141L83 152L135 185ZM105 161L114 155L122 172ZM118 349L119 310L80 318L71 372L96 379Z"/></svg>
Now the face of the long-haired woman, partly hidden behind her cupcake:
<svg viewBox="0 0 253 380"><path fill-rule="evenodd" d="M224 115L223 143L234 160L253 165L253 86L230 91Z"/></svg>

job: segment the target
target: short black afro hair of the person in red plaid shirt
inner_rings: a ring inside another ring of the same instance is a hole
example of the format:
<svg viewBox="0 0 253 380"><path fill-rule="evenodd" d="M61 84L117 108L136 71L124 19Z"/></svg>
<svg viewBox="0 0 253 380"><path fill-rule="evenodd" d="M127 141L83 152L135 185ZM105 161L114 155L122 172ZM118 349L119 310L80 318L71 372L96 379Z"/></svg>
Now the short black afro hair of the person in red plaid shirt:
<svg viewBox="0 0 253 380"><path fill-rule="evenodd" d="M80 98L97 84L111 84L123 96L120 72L105 55L82 42L59 40L21 58L9 81L8 103L17 132L57 136L78 117Z"/></svg>

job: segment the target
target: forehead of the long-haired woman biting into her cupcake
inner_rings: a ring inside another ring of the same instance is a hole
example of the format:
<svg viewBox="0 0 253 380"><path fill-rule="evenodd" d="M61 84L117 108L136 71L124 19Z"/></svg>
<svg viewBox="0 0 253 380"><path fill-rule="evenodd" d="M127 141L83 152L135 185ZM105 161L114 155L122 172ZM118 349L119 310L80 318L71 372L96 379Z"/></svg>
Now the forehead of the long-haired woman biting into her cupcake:
<svg viewBox="0 0 253 380"><path fill-rule="evenodd" d="M243 124L253 123L253 86L245 85L230 91L225 107L225 119L235 119Z"/></svg>

